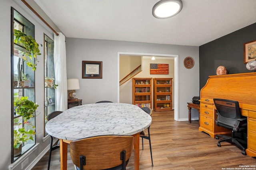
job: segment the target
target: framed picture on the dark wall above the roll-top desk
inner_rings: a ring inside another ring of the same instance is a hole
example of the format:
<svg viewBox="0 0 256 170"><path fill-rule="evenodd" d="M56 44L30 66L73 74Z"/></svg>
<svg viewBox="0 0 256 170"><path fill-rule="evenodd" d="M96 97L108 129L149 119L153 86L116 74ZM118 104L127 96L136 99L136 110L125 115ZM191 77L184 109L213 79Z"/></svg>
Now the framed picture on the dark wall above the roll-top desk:
<svg viewBox="0 0 256 170"><path fill-rule="evenodd" d="M244 43L244 64L256 59L256 40Z"/></svg>

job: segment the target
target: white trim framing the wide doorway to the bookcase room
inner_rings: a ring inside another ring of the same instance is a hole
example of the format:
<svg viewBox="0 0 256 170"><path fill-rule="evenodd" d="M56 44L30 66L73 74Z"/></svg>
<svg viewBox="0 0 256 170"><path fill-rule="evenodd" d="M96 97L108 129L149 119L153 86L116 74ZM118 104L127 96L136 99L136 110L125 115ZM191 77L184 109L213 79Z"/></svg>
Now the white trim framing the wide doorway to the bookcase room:
<svg viewBox="0 0 256 170"><path fill-rule="evenodd" d="M129 53L129 52L118 52L118 59L117 59L117 65L118 65L118 81L117 81L117 102L120 102L120 56L122 55L129 55L129 56L137 56L137 57L165 57L167 59L173 59L174 60L174 93L172 95L174 96L174 120L178 121L178 55L167 55L167 54L154 54L154 53ZM131 88L132 89L132 88ZM123 95L123 94L122 94ZM128 95L128 94L125 94ZM130 94L132 95L132 94Z"/></svg>

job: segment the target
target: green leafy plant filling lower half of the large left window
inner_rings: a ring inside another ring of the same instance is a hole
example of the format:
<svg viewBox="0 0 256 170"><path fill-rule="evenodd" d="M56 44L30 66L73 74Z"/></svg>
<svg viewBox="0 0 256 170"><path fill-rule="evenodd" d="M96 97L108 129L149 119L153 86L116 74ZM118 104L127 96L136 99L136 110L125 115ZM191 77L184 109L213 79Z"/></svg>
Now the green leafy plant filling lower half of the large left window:
<svg viewBox="0 0 256 170"><path fill-rule="evenodd" d="M17 99L14 102L14 107L16 107L15 111L17 115L22 116L22 123L19 122L19 119L14 119L14 156L18 156L21 153L22 142L26 142L28 140L33 140L33 136L35 135L35 127L30 124L29 120L32 117L35 117L35 111L38 107L38 104L35 104L31 100L28 100L27 96L22 96L20 99Z"/></svg>

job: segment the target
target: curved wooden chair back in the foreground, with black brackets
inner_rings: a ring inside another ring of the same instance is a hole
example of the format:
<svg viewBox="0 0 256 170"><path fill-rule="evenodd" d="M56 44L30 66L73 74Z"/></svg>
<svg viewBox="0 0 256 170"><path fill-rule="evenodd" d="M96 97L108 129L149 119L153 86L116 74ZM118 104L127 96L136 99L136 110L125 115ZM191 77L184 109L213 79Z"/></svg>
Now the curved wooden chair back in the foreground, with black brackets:
<svg viewBox="0 0 256 170"><path fill-rule="evenodd" d="M125 170L132 149L133 136L103 135L70 142L71 159L80 170Z"/></svg>

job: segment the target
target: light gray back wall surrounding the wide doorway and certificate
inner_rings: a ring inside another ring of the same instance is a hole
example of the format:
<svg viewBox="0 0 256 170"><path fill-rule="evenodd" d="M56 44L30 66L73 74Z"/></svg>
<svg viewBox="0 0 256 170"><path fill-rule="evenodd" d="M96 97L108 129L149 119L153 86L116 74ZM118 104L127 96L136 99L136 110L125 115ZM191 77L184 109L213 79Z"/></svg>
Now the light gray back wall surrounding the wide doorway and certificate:
<svg viewBox="0 0 256 170"><path fill-rule="evenodd" d="M76 96L82 99L82 104L118 101L118 52L179 55L178 94L173 95L178 95L178 120L188 120L187 102L199 95L198 47L66 38L66 51L67 78L79 78L80 90L76 90ZM195 61L191 69L183 64L188 56ZM102 61L102 79L82 79L82 61ZM198 118L196 111L192 113L194 117Z"/></svg>

